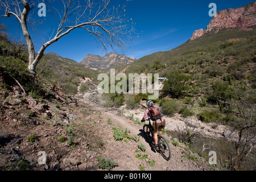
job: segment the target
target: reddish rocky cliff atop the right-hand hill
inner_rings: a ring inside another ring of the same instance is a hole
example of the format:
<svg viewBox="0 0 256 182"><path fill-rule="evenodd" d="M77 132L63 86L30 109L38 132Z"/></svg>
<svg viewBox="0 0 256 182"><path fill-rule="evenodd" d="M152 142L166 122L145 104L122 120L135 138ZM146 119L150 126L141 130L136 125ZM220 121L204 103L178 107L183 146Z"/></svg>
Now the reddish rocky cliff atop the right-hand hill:
<svg viewBox="0 0 256 182"><path fill-rule="evenodd" d="M217 16L213 16L212 20L203 31L196 30L190 40L194 40L209 32L217 33L223 28L243 28L252 30L252 26L256 24L256 1L237 9L221 10L217 12Z"/></svg>

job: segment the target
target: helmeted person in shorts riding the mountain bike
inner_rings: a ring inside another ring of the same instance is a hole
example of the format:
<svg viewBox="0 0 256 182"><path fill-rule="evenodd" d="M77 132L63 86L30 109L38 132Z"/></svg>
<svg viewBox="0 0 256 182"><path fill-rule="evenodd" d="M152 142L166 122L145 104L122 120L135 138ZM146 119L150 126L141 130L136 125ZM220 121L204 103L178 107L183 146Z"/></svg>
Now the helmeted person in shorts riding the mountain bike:
<svg viewBox="0 0 256 182"><path fill-rule="evenodd" d="M147 101L148 109L145 111L144 116L142 118L142 122L147 118L150 117L150 108L154 107L154 103L152 101ZM160 119L156 119L156 121L152 120L152 128L154 132L154 140L155 140L155 148L158 150L158 131L159 135L162 135L162 129L166 126L166 121L162 116Z"/></svg>

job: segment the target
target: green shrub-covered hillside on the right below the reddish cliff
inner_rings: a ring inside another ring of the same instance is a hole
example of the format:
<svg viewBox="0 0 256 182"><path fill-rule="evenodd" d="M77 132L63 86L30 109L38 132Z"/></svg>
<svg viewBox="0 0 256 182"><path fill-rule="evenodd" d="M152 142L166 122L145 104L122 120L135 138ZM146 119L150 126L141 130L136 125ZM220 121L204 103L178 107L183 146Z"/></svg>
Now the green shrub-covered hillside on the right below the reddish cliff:
<svg viewBox="0 0 256 182"><path fill-rule="evenodd" d="M168 78L159 103L164 98L186 104L196 100L200 110L217 111L222 114L219 122L232 125L236 119L225 117L241 113L236 101L256 102L255 32L226 28L218 34L206 34L170 51L144 56L125 72L159 73L159 77Z"/></svg>

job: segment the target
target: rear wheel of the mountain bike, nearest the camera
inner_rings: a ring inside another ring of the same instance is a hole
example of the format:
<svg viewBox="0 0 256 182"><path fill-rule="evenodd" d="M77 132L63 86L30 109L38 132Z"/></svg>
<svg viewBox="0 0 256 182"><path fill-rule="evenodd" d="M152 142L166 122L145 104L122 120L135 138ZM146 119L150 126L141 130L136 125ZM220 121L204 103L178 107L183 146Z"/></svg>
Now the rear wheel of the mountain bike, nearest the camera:
<svg viewBox="0 0 256 182"><path fill-rule="evenodd" d="M160 154L163 156L164 159L166 159L167 161L171 159L171 156L172 156L171 147L167 139L164 138L162 135L158 136L158 148L159 148Z"/></svg>

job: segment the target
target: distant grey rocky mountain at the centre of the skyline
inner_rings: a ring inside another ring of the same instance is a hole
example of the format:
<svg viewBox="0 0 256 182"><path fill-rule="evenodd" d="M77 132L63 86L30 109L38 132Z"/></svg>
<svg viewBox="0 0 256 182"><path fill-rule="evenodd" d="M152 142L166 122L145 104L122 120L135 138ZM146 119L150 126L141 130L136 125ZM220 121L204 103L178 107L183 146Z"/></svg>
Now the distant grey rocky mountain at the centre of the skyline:
<svg viewBox="0 0 256 182"><path fill-rule="evenodd" d="M135 60L137 59L134 57L127 57L123 54L117 55L112 52L104 57L88 54L80 64L84 64L86 68L106 70L111 67L133 63Z"/></svg>

